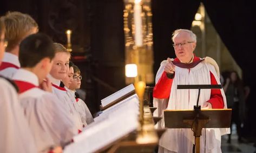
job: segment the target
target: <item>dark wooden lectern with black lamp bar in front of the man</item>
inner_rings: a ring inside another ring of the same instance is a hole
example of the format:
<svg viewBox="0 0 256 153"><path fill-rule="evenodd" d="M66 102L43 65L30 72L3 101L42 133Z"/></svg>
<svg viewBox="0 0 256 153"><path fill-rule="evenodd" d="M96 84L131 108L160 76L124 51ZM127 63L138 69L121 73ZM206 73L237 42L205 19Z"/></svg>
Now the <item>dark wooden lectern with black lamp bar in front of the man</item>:
<svg viewBox="0 0 256 153"><path fill-rule="evenodd" d="M194 110L165 110L165 127L191 128L195 136L193 152L199 153L202 128L229 128L232 109L201 109L198 106L200 89L222 88L221 85L178 85L177 88L199 89L198 101Z"/></svg>

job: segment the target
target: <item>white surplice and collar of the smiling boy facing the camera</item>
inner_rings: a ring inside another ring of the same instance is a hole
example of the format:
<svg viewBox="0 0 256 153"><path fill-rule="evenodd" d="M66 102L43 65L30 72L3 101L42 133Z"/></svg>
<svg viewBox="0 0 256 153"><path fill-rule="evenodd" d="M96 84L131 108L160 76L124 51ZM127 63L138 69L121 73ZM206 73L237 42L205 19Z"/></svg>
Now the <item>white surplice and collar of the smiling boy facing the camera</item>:
<svg viewBox="0 0 256 153"><path fill-rule="evenodd" d="M48 78L50 79L52 84L54 84L55 86L60 86L61 80L55 79L51 75L48 75ZM67 114L69 114L69 116L73 120L78 133L78 130L81 131L83 129L81 117L76 111L74 103L68 95L68 91L64 87L60 89L56 88L55 86L52 86L52 93L57 96L57 98L61 101L62 105L66 108Z"/></svg>

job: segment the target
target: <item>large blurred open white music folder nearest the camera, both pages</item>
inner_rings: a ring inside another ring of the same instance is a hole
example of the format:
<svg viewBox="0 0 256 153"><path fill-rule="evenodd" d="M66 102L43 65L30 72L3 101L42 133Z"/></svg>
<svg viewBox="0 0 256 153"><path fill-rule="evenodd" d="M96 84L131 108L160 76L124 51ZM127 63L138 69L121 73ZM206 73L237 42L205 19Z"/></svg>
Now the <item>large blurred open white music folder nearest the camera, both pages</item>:
<svg viewBox="0 0 256 153"><path fill-rule="evenodd" d="M119 141L138 127L139 99L134 94L111 106L73 138L64 152L95 152Z"/></svg>

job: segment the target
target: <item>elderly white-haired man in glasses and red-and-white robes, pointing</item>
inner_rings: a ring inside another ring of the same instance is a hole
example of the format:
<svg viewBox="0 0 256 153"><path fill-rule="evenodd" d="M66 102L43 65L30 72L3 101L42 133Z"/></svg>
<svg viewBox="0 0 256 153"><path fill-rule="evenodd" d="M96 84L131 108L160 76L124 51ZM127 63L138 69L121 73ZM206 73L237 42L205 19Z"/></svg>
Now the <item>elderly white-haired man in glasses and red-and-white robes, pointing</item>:
<svg viewBox="0 0 256 153"><path fill-rule="evenodd" d="M175 30L172 35L175 59L161 62L156 74L154 87L154 116L163 117L163 110L193 109L198 90L178 90L177 85L217 85L220 84L219 67L209 57L199 58L194 54L195 34L186 29ZM199 105L202 109L227 108L223 89L201 91ZM158 125L165 128L163 120ZM221 152L221 135L228 129L203 129L200 138L200 152ZM167 129L159 141L159 152L192 152L194 144L191 129Z"/></svg>

